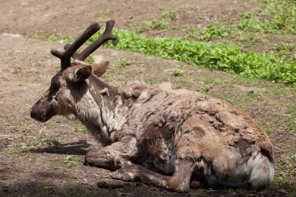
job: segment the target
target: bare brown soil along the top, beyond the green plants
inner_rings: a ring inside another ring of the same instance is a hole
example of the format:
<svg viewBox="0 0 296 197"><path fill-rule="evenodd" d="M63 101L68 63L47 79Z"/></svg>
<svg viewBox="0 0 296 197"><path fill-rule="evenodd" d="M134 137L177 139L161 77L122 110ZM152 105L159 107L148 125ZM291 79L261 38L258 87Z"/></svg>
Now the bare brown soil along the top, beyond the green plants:
<svg viewBox="0 0 296 197"><path fill-rule="evenodd" d="M257 5L250 0L6 0L0 7L0 33L72 35L83 31L91 21L111 18L116 21L115 28L129 29L131 22L142 25L153 16L175 9L182 10L174 20L176 25L203 28L211 21L226 22L254 9L244 7L245 2ZM170 30L163 35L182 35L182 32Z"/></svg>

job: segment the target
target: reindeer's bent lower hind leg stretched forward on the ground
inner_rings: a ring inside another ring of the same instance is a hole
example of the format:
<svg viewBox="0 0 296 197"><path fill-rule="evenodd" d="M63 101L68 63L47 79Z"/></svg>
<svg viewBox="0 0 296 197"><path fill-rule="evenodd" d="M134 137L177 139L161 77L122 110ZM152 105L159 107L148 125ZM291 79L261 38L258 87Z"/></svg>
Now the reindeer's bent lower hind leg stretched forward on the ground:
<svg viewBox="0 0 296 197"><path fill-rule="evenodd" d="M131 182L147 182L168 191L188 193L192 164L193 161L190 160L177 160L175 173L172 176L158 174L142 165L135 164L118 169L112 174L112 178Z"/></svg>

